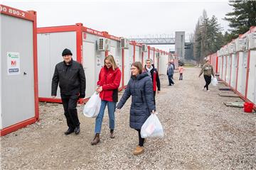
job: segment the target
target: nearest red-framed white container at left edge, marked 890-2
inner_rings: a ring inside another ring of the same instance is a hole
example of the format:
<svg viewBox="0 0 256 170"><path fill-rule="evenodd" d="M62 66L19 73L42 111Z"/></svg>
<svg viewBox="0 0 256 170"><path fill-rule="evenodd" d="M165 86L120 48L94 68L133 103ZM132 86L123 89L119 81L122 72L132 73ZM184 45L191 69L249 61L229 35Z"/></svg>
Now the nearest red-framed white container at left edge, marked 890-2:
<svg viewBox="0 0 256 170"><path fill-rule="evenodd" d="M0 4L0 134L35 123L38 113L36 12Z"/></svg>

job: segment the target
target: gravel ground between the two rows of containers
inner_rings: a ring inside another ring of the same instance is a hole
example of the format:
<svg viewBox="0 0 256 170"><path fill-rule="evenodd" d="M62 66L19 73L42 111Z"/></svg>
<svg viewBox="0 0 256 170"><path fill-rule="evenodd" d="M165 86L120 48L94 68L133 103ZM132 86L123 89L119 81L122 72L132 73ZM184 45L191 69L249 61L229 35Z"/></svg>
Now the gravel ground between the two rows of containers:
<svg viewBox="0 0 256 170"><path fill-rule="evenodd" d="M256 114L224 106L242 100L218 96L223 84L202 91L199 71L186 68L183 81L176 73L174 86L161 76L156 108L164 138L149 138L142 155L132 154L138 137L129 128L130 99L116 113L114 139L105 113L96 146L90 145L95 120L81 114L82 106L80 134L65 136L62 105L40 103L40 122L1 137L1 169L256 169Z"/></svg>

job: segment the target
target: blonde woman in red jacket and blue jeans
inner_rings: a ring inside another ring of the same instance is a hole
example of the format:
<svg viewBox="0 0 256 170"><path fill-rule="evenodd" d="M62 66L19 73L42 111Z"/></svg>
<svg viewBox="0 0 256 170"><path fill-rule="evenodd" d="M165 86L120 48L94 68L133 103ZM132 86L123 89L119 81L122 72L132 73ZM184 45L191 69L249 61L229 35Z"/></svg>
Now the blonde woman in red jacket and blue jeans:
<svg viewBox="0 0 256 170"><path fill-rule="evenodd" d="M110 119L110 137L114 138L114 111L118 101L118 88L121 81L121 71L114 62L114 57L109 55L105 57L105 66L102 67L97 81L96 91L100 93L101 106L100 113L95 120L95 137L91 145L96 145L100 142L100 130L102 120L107 106Z"/></svg>

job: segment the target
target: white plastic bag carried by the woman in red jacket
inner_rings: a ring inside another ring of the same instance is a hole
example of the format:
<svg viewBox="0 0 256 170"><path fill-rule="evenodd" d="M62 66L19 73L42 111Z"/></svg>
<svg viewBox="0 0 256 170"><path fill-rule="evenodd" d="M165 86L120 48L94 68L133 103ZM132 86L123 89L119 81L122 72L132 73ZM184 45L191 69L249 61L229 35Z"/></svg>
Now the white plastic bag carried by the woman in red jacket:
<svg viewBox="0 0 256 170"><path fill-rule="evenodd" d="M95 118L100 112L100 105L100 95L95 92L85 104L82 113L88 118Z"/></svg>

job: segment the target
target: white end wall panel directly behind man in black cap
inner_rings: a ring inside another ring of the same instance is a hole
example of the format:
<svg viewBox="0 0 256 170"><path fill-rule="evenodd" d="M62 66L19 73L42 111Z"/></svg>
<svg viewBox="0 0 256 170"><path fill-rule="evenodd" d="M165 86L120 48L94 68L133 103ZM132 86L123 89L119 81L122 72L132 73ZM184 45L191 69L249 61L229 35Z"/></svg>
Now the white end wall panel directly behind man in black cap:
<svg viewBox="0 0 256 170"><path fill-rule="evenodd" d="M68 48L77 60L76 32L38 33L38 89L39 97L51 98L51 81L55 65L63 61L62 52ZM58 88L57 98L60 98Z"/></svg>

